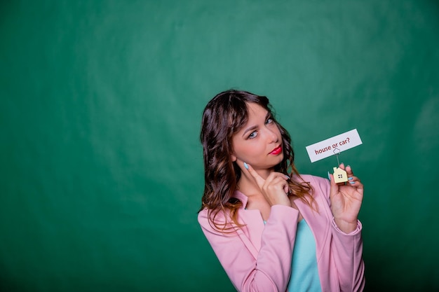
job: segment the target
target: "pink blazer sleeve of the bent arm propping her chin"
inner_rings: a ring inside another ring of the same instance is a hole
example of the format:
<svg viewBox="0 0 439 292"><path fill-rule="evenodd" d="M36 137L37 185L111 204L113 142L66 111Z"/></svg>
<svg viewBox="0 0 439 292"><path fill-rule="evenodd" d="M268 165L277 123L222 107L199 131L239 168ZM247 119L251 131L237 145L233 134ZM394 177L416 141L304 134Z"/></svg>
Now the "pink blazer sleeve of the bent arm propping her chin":
<svg viewBox="0 0 439 292"><path fill-rule="evenodd" d="M212 228L208 212L198 214L198 222L210 246L238 291L286 291L290 280L297 210L274 205L262 232L259 251L241 228L227 234ZM243 227L245 228L245 226Z"/></svg>

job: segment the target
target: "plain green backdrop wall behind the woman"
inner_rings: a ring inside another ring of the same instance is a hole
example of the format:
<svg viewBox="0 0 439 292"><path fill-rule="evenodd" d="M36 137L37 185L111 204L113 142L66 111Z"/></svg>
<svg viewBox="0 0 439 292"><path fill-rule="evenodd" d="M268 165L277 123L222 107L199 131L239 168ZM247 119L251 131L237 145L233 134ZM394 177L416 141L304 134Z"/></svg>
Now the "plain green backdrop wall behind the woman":
<svg viewBox="0 0 439 292"><path fill-rule="evenodd" d="M358 129L367 291L438 291L438 48L438 1L2 1L0 290L234 291L196 222L198 132L241 88L302 173Z"/></svg>

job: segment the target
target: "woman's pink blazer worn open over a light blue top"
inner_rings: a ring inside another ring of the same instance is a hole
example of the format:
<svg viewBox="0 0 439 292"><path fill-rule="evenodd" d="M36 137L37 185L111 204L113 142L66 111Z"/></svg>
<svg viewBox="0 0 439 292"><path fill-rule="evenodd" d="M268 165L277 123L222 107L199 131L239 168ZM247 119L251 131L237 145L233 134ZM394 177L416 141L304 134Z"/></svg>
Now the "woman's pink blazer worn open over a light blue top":
<svg viewBox="0 0 439 292"><path fill-rule="evenodd" d="M330 210L329 181L311 175L302 178L314 188L318 213L301 200L295 202L316 239L322 291L363 291L365 266L360 221L349 234L339 230ZM299 212L273 205L264 225L258 210L244 209L247 196L239 191L234 196L243 202L238 220L245 226L236 228L232 234L219 232L210 225L208 211L204 209L198 214L198 222L205 237L238 291L286 291ZM217 220L224 222L224 214L218 214Z"/></svg>

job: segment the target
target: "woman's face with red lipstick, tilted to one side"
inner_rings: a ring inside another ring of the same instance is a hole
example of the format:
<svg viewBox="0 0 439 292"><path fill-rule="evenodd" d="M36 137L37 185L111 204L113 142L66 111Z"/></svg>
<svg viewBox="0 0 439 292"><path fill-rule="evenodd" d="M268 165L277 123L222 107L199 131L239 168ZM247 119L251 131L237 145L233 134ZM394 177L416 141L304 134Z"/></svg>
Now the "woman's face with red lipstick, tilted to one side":
<svg viewBox="0 0 439 292"><path fill-rule="evenodd" d="M254 169L271 169L283 160L281 131L262 106L248 103L247 109L247 123L231 139L231 159Z"/></svg>

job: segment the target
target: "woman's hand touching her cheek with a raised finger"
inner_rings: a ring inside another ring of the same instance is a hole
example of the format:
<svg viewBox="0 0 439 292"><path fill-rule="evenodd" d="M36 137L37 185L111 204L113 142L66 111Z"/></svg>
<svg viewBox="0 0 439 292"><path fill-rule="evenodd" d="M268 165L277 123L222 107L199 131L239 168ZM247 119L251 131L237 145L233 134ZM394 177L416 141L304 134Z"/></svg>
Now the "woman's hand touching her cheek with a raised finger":
<svg viewBox="0 0 439 292"><path fill-rule="evenodd" d="M262 195L264 195L271 206L273 206L273 204L283 204L291 207L291 201L288 197L290 190L288 179L290 179L290 177L281 174L281 172L271 172L266 179L263 179L251 165L245 163L244 167L248 170L253 179L255 179L259 190L261 190Z"/></svg>

